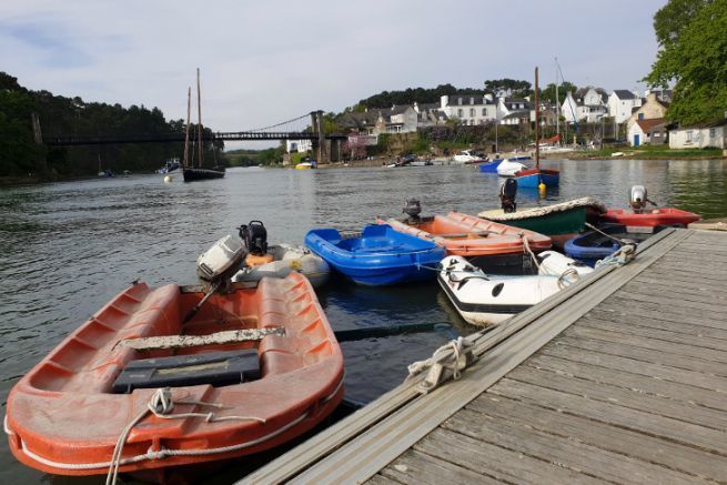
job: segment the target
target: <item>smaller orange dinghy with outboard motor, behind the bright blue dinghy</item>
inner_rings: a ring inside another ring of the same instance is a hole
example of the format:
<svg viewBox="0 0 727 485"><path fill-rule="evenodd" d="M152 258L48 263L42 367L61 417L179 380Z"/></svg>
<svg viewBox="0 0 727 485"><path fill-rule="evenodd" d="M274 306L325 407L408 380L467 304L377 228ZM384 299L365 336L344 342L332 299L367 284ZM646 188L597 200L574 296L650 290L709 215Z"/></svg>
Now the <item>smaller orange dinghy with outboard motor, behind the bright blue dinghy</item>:
<svg viewBox="0 0 727 485"><path fill-rule="evenodd" d="M412 208L410 204L415 202ZM528 250L535 253L551 249L551 239L533 231L485 221L474 215L450 212L446 215L420 218L418 201L407 201L408 218L376 220L400 232L432 241L447 254L469 259L485 271L511 273L532 270ZM414 214L414 215L412 215Z"/></svg>

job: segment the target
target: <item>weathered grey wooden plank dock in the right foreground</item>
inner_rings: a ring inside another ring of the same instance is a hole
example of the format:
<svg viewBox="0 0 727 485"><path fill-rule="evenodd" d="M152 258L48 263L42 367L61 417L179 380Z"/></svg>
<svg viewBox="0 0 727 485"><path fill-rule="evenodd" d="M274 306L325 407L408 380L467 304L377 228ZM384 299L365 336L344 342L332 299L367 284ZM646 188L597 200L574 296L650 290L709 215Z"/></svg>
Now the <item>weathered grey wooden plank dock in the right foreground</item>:
<svg viewBox="0 0 727 485"><path fill-rule="evenodd" d="M664 231L242 483L727 483L727 233Z"/></svg>

